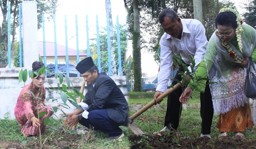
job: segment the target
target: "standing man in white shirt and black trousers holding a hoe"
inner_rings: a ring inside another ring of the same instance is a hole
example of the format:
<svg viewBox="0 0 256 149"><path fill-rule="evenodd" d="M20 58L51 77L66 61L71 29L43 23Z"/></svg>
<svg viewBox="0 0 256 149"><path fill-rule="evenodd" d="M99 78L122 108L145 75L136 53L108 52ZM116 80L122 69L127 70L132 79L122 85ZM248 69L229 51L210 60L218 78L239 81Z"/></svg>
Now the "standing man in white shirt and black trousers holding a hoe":
<svg viewBox="0 0 256 149"><path fill-rule="evenodd" d="M160 40L160 72L158 73L158 85L154 100L160 103L163 99L157 100L157 97L167 90L168 81L170 79L171 68L173 64L172 53L180 55L183 63L187 66L190 64L190 59L195 58L195 67L203 60L204 53L207 48L207 38L205 36L205 29L202 23L195 19L180 19L175 11L172 9L164 9L159 14L159 22L164 30L164 34ZM192 56L192 57L191 57ZM189 70L191 71L190 67ZM179 72L184 72L180 67L175 79L182 80ZM175 80L172 85L177 84ZM181 96L182 88L177 89L172 94L168 95L167 110L165 117L165 128L161 131L175 129L179 125L181 114L181 103L179 97ZM209 90L209 85L206 86L205 93L201 93L201 137L207 136L210 138L210 129L213 117L212 96Z"/></svg>

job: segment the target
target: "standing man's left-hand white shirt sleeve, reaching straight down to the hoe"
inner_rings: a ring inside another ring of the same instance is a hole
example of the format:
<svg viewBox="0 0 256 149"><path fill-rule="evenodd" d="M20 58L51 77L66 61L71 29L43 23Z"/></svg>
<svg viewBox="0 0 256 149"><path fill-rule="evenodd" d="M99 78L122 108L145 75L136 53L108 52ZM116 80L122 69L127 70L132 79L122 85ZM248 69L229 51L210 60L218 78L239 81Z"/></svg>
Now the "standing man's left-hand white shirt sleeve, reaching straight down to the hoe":
<svg viewBox="0 0 256 149"><path fill-rule="evenodd" d="M172 70L172 49L164 45L165 40L163 37L160 40L160 71L157 74L157 88L156 91L165 92L167 90L167 84L170 80Z"/></svg>

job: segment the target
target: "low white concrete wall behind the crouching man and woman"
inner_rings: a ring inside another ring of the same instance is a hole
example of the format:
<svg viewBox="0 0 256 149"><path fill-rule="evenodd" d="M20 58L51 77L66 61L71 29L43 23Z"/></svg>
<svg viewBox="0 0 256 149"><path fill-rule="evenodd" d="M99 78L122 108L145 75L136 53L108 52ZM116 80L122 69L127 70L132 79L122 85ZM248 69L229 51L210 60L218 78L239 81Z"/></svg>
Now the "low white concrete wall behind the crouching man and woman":
<svg viewBox="0 0 256 149"><path fill-rule="evenodd" d="M4 117L9 117L9 119L15 119L14 116L14 108L17 103L17 98L20 94L21 89L31 82L30 79L26 81L26 83L18 81L19 72L21 69L24 68L1 68L0 74L0 119ZM121 89L122 93L126 96L127 95L127 86L126 86L126 77L125 76L115 76L111 77L116 84ZM76 88L78 91L81 89L82 84L82 77L70 77L71 82L73 83L73 87ZM70 112L70 110L76 109L71 103L67 101L67 105L70 106L70 109L65 109L61 106L63 103L61 97L57 93L51 93L49 90L58 88L57 83L59 83L59 78L46 78L44 86L47 88L46 90L46 98L58 98L55 102L47 102L46 104L49 106L58 106L64 112ZM66 79L63 81L64 84L67 85ZM69 91L71 92L71 91ZM87 92L87 87L84 87L84 95ZM52 100L49 100L52 101ZM62 112L58 110L55 114L58 118L61 118Z"/></svg>

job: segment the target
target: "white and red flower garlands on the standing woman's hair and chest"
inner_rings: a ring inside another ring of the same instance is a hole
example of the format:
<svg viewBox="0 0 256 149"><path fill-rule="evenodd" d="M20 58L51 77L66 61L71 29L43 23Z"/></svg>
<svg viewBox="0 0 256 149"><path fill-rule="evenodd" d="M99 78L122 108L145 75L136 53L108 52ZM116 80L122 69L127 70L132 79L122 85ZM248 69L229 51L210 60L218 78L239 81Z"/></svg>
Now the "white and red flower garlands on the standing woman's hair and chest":
<svg viewBox="0 0 256 149"><path fill-rule="evenodd" d="M236 23L237 23L236 37L237 37L237 43L238 43L238 46L239 46L238 50L239 50L239 52L242 53L243 45L242 45L242 41L241 41L241 33L243 32L243 29L242 29L241 25L243 23L243 20L242 20L239 12L236 10L235 7L224 6L220 10L220 13L225 12L225 11L230 11L230 12L233 12L234 14L236 14ZM216 35L218 35L218 32L216 32ZM223 46L227 50L230 57L232 57L236 61L236 63L241 64L241 63L244 62L244 60L242 60L239 56L236 55L235 52L233 52L233 50L230 48L230 46L228 45L228 43L224 39L221 39L221 46Z"/></svg>

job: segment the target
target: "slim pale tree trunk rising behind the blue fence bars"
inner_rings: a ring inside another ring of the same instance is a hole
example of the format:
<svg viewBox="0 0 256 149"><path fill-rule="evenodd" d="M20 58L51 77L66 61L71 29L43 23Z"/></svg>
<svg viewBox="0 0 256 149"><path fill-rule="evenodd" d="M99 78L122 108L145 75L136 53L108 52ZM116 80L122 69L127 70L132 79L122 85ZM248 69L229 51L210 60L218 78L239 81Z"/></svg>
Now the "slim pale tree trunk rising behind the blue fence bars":
<svg viewBox="0 0 256 149"><path fill-rule="evenodd" d="M109 18L109 35L110 35L110 49L111 49L111 71L112 75L116 75L116 61L115 61L115 47L114 47L114 33L113 33L113 20L111 13L111 1L105 0L106 14Z"/></svg>

